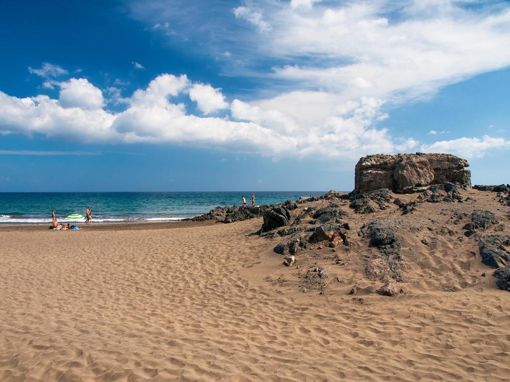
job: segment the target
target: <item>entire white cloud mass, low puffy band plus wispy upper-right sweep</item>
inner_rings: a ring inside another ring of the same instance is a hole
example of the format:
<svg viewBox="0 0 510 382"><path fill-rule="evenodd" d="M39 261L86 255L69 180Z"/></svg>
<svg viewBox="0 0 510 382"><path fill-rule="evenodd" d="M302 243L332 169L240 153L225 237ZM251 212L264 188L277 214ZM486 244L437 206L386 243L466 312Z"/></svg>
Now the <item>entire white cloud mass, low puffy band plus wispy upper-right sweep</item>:
<svg viewBox="0 0 510 382"><path fill-rule="evenodd" d="M29 70L50 78L48 87L60 87L59 98L0 92L0 133L169 142L272 157L355 159L374 152L458 153L459 147L466 148L463 156L480 157L506 150L508 141L488 135L420 144L413 132L392 137L378 127L391 117L386 105L430 97L446 85L510 65L510 8L497 2L472 5L454 0L246 2L225 17L252 32L216 50L229 52L227 59L253 61L251 74L262 85L277 81L278 88L262 89L250 100L227 100L212 85L161 74L127 98L109 88L112 102L126 105L114 113L87 79L57 82L65 69L45 63ZM149 25L158 31L168 24L152 20ZM264 60L275 64L257 65ZM193 103L199 115L187 111ZM430 131L435 133L440 132Z"/></svg>

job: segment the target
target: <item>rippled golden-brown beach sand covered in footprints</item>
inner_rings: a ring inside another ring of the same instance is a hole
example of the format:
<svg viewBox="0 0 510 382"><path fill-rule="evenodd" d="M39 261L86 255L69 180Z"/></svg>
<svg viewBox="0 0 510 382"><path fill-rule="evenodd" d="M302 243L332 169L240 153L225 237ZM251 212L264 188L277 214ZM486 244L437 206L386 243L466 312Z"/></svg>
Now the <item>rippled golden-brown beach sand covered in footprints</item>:
<svg viewBox="0 0 510 382"><path fill-rule="evenodd" d="M435 219L442 207L426 206ZM323 249L326 291L304 293L302 269L254 234L261 224L3 227L0 380L510 378L510 293L469 240L441 236L428 251L422 233L402 234L411 293L380 296L361 281L353 297L363 242L339 250L346 266Z"/></svg>

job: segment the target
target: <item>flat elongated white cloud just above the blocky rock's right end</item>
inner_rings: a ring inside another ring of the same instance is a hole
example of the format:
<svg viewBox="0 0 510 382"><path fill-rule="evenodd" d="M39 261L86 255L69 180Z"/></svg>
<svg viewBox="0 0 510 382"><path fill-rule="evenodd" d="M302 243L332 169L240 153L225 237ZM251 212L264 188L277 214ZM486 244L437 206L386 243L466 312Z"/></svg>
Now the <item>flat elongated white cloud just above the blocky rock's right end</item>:
<svg viewBox="0 0 510 382"><path fill-rule="evenodd" d="M510 149L510 141L504 138L483 135L479 138L458 138L450 141L439 141L430 145L422 145L423 152L444 152L457 154L465 158L481 158L493 150Z"/></svg>

